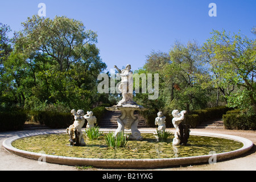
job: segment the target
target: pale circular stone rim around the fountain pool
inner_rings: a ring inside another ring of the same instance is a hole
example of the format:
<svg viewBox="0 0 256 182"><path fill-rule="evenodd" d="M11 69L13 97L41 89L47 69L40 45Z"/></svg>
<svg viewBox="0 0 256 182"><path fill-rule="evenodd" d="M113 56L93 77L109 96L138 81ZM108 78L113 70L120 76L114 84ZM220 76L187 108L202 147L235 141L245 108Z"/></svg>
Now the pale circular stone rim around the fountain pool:
<svg viewBox="0 0 256 182"><path fill-rule="evenodd" d="M63 130L55 131L44 131L31 134L16 135L15 137L7 138L3 141L3 147L5 150L22 156L28 159L38 160L39 158L46 159L47 163L61 164L67 166L93 166L99 168L158 168L158 167L170 167L170 166L180 166L180 165L191 165L196 163L208 163L209 159L213 155L199 155L199 156L189 156L183 158L164 158L164 159L93 159L93 158L75 158L68 156L57 156L57 155L48 155L40 154L36 152L24 151L12 146L15 140L20 138L32 137L36 135L48 135L48 134L61 134L65 133ZM152 131L144 131L143 133L152 133ZM243 147L230 151L223 152L220 154L214 154L218 160L224 160L239 156L249 151L253 147L253 142L251 140L238 137L235 135L226 135L226 134L217 134L217 133L205 133L199 131L191 131L191 135L202 136L202 137L217 137L236 140L243 143Z"/></svg>

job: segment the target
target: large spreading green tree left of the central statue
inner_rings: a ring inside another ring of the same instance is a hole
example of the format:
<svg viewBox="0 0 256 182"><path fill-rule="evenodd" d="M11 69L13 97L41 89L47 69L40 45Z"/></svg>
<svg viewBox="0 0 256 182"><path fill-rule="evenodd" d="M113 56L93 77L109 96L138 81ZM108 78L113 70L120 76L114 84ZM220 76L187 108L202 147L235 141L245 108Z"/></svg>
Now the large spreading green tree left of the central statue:
<svg viewBox="0 0 256 182"><path fill-rule="evenodd" d="M95 45L95 32L64 16L51 20L34 15L22 24L5 61L20 106L42 109L61 104L86 110L101 102L97 76L106 64Z"/></svg>

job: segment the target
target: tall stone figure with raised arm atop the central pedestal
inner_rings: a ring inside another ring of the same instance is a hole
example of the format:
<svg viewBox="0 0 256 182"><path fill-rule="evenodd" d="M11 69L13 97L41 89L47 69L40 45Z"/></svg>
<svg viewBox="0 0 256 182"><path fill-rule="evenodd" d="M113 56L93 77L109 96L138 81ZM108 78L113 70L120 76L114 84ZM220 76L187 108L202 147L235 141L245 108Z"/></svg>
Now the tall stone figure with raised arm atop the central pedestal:
<svg viewBox="0 0 256 182"><path fill-rule="evenodd" d="M121 76L121 83L119 84L118 89L122 93L122 100L118 102L118 106L121 106L122 104L134 104L133 72L131 71L131 65L127 64L123 70L117 68L116 65L114 68L119 72L117 75Z"/></svg>

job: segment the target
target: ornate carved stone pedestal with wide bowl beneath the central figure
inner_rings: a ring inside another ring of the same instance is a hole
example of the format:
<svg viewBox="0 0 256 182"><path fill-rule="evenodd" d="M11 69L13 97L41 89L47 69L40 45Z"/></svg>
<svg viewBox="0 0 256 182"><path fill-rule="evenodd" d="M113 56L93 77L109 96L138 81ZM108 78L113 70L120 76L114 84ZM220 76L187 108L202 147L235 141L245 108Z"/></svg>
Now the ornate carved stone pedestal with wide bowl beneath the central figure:
<svg viewBox="0 0 256 182"><path fill-rule="evenodd" d="M106 109L110 111L120 110L122 113L121 116L117 118L118 128L115 131L115 136L126 129L131 130L129 139L142 139L141 132L138 130L139 118L134 116L134 111L147 110L146 108L137 104L118 104L112 107L106 107Z"/></svg>

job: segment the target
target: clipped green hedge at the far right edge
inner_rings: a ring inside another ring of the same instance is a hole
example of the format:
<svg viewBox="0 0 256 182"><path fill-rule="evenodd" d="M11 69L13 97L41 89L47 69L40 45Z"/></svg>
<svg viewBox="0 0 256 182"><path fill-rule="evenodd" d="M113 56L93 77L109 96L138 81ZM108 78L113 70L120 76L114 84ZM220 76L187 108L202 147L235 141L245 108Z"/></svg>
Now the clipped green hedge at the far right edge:
<svg viewBox="0 0 256 182"><path fill-rule="evenodd" d="M256 115L246 115L240 110L228 111L223 115L225 129L256 130Z"/></svg>

